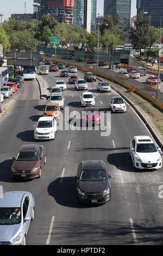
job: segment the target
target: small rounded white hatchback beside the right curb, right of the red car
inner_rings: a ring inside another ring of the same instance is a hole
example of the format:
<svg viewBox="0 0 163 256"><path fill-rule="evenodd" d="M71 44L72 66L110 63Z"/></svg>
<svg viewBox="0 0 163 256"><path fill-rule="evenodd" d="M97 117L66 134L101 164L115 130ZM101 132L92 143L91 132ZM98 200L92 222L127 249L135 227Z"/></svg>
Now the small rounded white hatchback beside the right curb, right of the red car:
<svg viewBox="0 0 163 256"><path fill-rule="evenodd" d="M110 101L111 112L126 112L126 101L121 96L112 97Z"/></svg>

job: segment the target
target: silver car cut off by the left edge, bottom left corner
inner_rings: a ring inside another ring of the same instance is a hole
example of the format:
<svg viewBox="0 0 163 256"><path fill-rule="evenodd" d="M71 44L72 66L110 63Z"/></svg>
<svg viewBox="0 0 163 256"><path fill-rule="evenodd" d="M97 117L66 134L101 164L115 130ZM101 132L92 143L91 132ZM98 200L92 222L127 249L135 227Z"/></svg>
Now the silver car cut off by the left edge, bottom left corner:
<svg viewBox="0 0 163 256"><path fill-rule="evenodd" d="M27 191L10 191L0 197L0 245L26 245L34 220L34 197Z"/></svg>

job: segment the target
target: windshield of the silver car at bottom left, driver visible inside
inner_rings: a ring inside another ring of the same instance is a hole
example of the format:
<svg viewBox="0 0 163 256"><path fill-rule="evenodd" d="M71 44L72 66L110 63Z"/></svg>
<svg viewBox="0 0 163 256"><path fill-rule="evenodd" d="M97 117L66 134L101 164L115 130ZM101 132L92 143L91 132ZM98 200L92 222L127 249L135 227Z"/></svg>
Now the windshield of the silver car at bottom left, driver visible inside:
<svg viewBox="0 0 163 256"><path fill-rule="evenodd" d="M21 208L1 207L0 225L14 225L21 223Z"/></svg>

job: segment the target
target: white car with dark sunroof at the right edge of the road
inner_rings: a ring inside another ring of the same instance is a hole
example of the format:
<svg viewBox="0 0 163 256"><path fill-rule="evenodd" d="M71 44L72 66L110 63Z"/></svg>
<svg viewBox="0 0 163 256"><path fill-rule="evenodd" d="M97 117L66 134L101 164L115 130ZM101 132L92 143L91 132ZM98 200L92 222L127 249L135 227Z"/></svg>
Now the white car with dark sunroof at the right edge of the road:
<svg viewBox="0 0 163 256"><path fill-rule="evenodd" d="M133 167L137 169L159 169L162 159L153 140L149 136L134 136L130 141L129 155Z"/></svg>

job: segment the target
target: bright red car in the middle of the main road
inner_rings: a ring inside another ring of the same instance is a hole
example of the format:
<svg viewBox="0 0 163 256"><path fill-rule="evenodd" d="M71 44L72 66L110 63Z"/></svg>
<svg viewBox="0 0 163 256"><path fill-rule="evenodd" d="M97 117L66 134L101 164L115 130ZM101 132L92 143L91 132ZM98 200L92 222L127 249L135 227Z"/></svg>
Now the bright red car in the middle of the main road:
<svg viewBox="0 0 163 256"><path fill-rule="evenodd" d="M86 125L99 125L100 119L100 112L97 107L86 107L84 109L84 120Z"/></svg>

